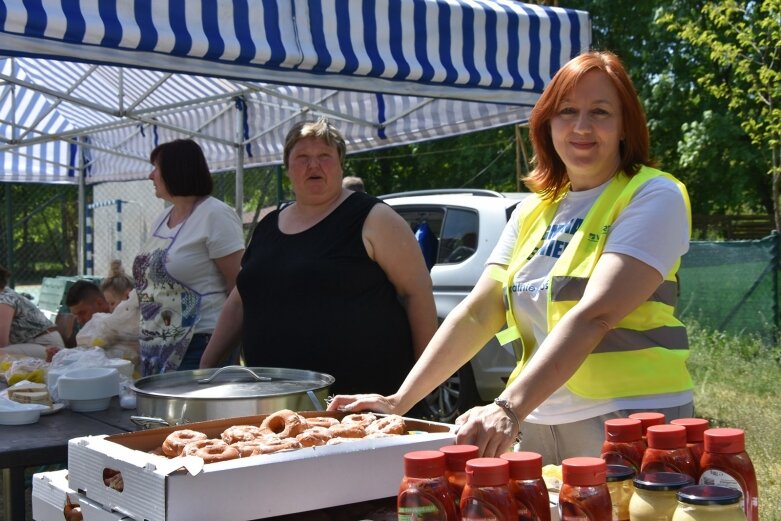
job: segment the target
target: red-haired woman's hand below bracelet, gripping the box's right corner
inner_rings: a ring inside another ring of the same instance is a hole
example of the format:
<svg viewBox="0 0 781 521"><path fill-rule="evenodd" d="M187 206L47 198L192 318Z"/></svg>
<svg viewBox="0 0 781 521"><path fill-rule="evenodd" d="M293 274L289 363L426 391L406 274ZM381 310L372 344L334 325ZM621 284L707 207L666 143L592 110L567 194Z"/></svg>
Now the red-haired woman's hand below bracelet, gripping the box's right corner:
<svg viewBox="0 0 781 521"><path fill-rule="evenodd" d="M456 443L477 445L485 458L509 451L519 434L507 413L494 404L469 409L455 423Z"/></svg>

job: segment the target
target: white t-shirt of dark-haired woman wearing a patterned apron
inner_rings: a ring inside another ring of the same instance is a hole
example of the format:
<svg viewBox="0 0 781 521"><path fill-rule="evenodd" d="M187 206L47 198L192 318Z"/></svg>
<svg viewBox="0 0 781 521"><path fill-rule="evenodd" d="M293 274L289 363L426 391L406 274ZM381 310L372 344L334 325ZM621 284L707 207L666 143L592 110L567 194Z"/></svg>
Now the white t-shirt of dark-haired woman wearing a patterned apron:
<svg viewBox="0 0 781 521"><path fill-rule="evenodd" d="M211 333L227 295L227 286L214 259L244 249L241 221L236 211L214 197L201 201L182 223L169 228L166 210L152 224L159 238L173 239L166 269L172 277L199 293L201 319L195 333ZM178 235L177 235L178 233Z"/></svg>

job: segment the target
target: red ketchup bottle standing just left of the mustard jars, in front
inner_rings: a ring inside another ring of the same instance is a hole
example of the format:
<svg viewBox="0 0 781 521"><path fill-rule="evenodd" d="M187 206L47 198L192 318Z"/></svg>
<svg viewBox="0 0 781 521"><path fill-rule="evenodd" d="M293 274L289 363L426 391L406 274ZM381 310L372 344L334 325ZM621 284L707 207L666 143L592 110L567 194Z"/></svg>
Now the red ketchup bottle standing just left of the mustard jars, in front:
<svg viewBox="0 0 781 521"><path fill-rule="evenodd" d="M607 488L607 464L602 458L567 458L561 462L559 491L561 521L604 521L612 519Z"/></svg>

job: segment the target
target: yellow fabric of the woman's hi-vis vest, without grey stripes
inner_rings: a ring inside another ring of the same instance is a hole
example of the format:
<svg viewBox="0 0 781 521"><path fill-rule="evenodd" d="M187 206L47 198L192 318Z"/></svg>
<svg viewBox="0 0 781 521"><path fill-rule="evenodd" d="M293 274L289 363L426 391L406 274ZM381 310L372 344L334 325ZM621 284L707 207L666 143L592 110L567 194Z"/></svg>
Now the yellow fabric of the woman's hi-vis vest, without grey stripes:
<svg viewBox="0 0 781 521"><path fill-rule="evenodd" d="M548 291L548 331L577 303L573 301L553 301L553 281L556 277L591 276L606 243L610 226L626 208L637 189L652 178L664 176L672 180L681 191L687 213L691 216L688 193L682 183L673 176L659 170L643 167L634 177L618 174L595 201L586 215L583 224L573 235L570 244L556 261L550 274L551 287ZM518 241L513 250L509 268L504 273L502 284L507 305L508 329L497 337L507 340L520 336L517 321L512 314L511 287L517 271L541 245L541 238L550 225L558 207L558 201L542 198L528 198L521 208ZM691 217L689 217L691 231ZM665 280L676 282L676 273L680 260L665 276ZM497 279L498 280L498 279ZM674 308L662 302L647 301L625 317L616 326L636 332L642 338L644 332L658 328L682 328L683 324L673 315ZM501 335L501 337L500 337ZM578 371L567 381L570 391L586 398L608 399L625 396L640 396L680 392L692 388L692 381L686 369L688 349L669 349L670 346L647 346L642 349L595 352L590 354ZM523 370L531 353L523 349L515 370L510 375L508 385Z"/></svg>

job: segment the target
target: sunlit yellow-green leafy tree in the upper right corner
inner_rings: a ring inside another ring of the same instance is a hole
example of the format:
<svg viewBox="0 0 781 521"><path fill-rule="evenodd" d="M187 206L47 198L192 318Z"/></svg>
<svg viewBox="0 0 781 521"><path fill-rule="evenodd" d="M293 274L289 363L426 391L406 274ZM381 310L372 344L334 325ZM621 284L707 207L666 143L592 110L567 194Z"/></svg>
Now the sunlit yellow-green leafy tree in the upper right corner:
<svg viewBox="0 0 781 521"><path fill-rule="evenodd" d="M781 230L781 0L704 2L696 13L678 14L660 13L658 22L712 65L697 84L726 102L759 152Z"/></svg>

